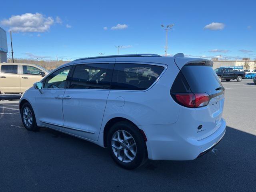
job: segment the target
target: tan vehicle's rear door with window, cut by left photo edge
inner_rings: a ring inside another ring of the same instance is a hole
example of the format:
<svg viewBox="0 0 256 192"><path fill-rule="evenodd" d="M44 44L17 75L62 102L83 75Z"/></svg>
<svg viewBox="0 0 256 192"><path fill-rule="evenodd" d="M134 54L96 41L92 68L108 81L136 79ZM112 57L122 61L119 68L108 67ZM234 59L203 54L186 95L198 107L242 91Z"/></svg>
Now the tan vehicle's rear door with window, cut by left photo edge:
<svg viewBox="0 0 256 192"><path fill-rule="evenodd" d="M0 70L1 93L20 93L19 65L3 64Z"/></svg>

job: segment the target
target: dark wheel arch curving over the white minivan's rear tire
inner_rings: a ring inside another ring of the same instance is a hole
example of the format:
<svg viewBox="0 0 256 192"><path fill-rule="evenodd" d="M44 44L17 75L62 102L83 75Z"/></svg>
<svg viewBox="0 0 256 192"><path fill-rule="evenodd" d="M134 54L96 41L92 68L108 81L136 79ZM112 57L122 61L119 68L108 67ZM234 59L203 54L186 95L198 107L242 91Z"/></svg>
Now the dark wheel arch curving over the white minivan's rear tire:
<svg viewBox="0 0 256 192"><path fill-rule="evenodd" d="M124 122L129 122L131 124L133 124L134 126L136 126L136 128L138 128L138 126L132 122L131 120L128 120L126 118L123 118L123 117L115 117L115 118L112 118L110 120L108 120L108 122L106 123L106 125L104 126L104 130L103 130L103 144L104 144L104 147L107 147L107 135L108 135L108 131L110 130L110 128L116 124L117 122L121 122L121 121L124 121ZM147 138L146 138L146 135L145 133L143 132L143 130L141 130L140 128L138 128L143 137L144 137L144 140L147 141Z"/></svg>

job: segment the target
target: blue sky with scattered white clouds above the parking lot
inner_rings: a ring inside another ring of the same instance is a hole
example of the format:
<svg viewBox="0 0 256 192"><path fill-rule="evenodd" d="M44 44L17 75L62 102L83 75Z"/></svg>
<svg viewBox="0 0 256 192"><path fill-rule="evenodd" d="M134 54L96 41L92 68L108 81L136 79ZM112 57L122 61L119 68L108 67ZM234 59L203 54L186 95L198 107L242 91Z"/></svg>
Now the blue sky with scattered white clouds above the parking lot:
<svg viewBox="0 0 256 192"><path fill-rule="evenodd" d="M58 55L66 60L99 56L99 52L112 55L118 53L118 45L126 47L120 54L163 55L166 36L160 25L172 23L170 55L183 52L205 58L256 58L253 0L2 3L0 26L19 31L13 34L17 58L54 59ZM10 51L9 33L7 38Z"/></svg>

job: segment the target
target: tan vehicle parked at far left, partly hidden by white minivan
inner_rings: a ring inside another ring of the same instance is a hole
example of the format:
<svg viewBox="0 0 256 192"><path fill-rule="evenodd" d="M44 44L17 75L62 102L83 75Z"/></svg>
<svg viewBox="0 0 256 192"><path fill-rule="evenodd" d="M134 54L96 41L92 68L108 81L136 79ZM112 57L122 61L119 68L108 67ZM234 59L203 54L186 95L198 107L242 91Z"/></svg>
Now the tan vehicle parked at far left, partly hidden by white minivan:
<svg viewBox="0 0 256 192"><path fill-rule="evenodd" d="M49 72L25 63L0 63L0 93L22 93Z"/></svg>

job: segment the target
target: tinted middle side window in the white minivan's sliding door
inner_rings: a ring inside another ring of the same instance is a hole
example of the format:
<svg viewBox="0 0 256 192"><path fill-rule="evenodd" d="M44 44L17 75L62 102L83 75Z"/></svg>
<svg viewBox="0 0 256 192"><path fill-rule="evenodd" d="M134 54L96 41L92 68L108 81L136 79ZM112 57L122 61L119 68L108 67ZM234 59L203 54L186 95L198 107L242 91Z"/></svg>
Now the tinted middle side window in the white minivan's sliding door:
<svg viewBox="0 0 256 192"><path fill-rule="evenodd" d="M112 71L109 64L79 64L75 66L70 89L110 89Z"/></svg>

